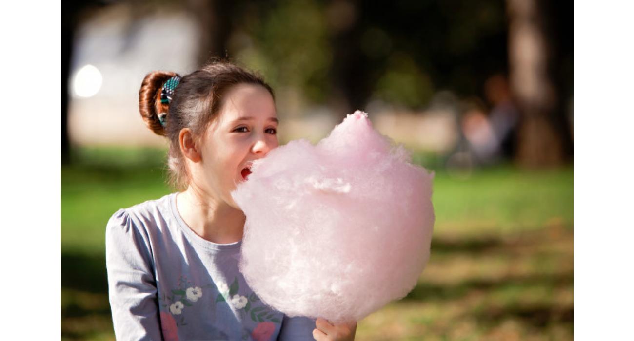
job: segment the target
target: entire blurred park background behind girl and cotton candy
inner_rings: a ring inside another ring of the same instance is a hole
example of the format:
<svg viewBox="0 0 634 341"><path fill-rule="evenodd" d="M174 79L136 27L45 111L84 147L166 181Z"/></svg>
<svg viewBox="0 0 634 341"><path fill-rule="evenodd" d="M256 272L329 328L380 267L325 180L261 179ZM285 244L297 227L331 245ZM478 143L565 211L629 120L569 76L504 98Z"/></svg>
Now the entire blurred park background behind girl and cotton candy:
<svg viewBox="0 0 634 341"><path fill-rule="evenodd" d="M573 339L573 3L63 1L61 338L114 338L105 224L171 192L138 113L212 56L276 92L280 143L356 109L436 172L429 264L358 340Z"/></svg>

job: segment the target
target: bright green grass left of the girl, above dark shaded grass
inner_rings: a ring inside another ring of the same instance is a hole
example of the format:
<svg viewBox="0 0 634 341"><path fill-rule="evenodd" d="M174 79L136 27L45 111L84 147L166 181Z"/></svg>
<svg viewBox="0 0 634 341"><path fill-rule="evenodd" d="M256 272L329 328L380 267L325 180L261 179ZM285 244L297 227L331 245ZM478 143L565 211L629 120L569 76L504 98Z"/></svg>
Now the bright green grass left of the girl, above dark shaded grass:
<svg viewBox="0 0 634 341"><path fill-rule="evenodd" d="M164 150L81 150L61 167L61 247L101 253L105 226L118 209L159 198L165 184Z"/></svg>

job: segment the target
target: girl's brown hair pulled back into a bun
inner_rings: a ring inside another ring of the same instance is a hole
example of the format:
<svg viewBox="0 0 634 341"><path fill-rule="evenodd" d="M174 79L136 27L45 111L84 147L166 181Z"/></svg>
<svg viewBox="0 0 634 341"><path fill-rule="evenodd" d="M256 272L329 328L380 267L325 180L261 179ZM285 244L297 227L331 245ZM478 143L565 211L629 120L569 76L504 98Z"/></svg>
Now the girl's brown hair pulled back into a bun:
<svg viewBox="0 0 634 341"><path fill-rule="evenodd" d="M169 103L161 103L160 94L167 80L176 76L174 72L154 71L145 76L139 90L139 112L145 124L155 134L169 139L167 165L169 183L184 190L190 181L183 154L179 145L179 133L190 128L195 138L200 138L223 106L223 96L237 84L256 84L265 87L275 100L273 89L261 75L239 67L226 60L214 60L185 75ZM164 124L159 115L166 113Z"/></svg>

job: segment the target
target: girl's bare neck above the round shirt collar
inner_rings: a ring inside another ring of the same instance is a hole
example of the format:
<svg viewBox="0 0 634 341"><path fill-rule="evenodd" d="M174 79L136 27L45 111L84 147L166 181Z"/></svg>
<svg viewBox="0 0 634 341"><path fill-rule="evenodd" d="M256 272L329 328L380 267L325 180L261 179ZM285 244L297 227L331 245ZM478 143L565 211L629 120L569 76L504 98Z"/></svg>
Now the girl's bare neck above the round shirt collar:
<svg viewBox="0 0 634 341"><path fill-rule="evenodd" d="M217 244L242 240L246 217L223 200L189 186L176 195L176 208L187 226L205 240Z"/></svg>

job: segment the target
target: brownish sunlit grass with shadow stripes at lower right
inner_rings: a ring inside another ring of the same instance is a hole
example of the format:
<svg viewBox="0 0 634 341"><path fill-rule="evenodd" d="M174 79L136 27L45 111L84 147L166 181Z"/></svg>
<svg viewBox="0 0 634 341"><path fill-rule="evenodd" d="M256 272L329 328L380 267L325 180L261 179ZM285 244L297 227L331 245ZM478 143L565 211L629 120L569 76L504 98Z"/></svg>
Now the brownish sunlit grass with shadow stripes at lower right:
<svg viewBox="0 0 634 341"><path fill-rule="evenodd" d="M434 254L405 299L358 326L359 340L572 340L573 233Z"/></svg>

